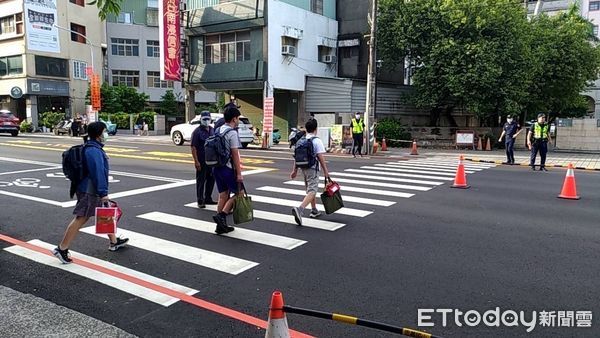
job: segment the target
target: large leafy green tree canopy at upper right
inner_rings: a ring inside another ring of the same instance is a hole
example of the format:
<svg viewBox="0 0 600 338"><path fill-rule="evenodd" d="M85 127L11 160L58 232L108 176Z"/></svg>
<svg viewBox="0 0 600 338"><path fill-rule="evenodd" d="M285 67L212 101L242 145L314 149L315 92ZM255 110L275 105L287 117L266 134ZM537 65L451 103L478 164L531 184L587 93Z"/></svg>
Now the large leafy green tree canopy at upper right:
<svg viewBox="0 0 600 338"><path fill-rule="evenodd" d="M386 67L408 57L417 106L462 107L480 121L559 113L600 70L591 24L568 13L528 21L514 0L381 0L378 53Z"/></svg>

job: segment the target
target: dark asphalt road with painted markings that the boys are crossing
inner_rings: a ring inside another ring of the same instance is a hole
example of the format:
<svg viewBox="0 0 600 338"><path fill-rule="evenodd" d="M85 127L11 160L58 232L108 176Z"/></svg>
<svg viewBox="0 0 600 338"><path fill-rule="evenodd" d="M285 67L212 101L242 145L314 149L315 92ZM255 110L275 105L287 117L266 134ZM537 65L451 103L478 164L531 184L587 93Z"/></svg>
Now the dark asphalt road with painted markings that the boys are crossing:
<svg viewBox="0 0 600 338"><path fill-rule="evenodd" d="M75 142L0 136L1 235L38 240L32 242L38 247L60 241L74 204L60 177L60 154ZM271 293L281 290L292 306L444 337L600 336L598 173L576 172L582 198L572 201L556 198L563 169L467 163L472 187L462 190L449 188L453 158L330 157L347 209L298 227L289 222L288 204L300 201L302 186L288 182L290 154L244 150L245 185L257 219L232 233L241 238L228 238L198 222L212 222L212 212L186 206L195 202L187 145L113 140L106 149L111 195L124 211L119 232L131 237L131 245L109 252L108 241L89 228L71 251L131 269L126 274L145 274L139 280L175 283L162 285L261 320L267 319ZM0 285L138 336L264 336L256 325L222 311L152 290L136 293L118 278L84 277L78 274L84 268L64 270L44 256L0 240ZM418 327L418 309L483 314L496 307L524 311L527 320L537 311L537 326L527 333L522 324L470 327L461 320L459 327L451 315L444 327L437 314L435 326ZM554 328L542 327L540 311L557 311ZM569 324L558 311L592 311L591 328L556 327ZM288 322L321 337L391 336L295 314Z"/></svg>

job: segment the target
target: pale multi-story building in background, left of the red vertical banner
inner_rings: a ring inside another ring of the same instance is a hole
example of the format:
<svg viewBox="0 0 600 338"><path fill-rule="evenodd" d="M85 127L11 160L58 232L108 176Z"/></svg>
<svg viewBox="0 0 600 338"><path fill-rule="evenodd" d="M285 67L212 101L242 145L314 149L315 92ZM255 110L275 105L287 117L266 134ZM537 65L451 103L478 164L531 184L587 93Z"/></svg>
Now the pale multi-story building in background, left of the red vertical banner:
<svg viewBox="0 0 600 338"><path fill-rule="evenodd" d="M169 89L183 103L182 83L160 79L158 0L125 1L121 13L109 15L106 22L110 85L124 84L148 94L149 104L157 106ZM214 92L198 91L194 103L214 103Z"/></svg>

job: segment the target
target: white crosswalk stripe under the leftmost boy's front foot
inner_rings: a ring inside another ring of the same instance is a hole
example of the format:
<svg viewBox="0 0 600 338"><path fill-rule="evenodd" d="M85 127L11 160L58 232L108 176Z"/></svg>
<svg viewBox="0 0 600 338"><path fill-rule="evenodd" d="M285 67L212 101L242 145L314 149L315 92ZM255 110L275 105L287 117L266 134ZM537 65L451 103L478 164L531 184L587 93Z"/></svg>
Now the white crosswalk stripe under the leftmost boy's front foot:
<svg viewBox="0 0 600 338"><path fill-rule="evenodd" d="M105 235L96 234L94 226L83 228L80 231L98 237L105 237ZM129 243L127 243L129 246L232 275L240 274L258 265L256 262L167 241L123 228L119 228L119 233L123 237L129 238Z"/></svg>

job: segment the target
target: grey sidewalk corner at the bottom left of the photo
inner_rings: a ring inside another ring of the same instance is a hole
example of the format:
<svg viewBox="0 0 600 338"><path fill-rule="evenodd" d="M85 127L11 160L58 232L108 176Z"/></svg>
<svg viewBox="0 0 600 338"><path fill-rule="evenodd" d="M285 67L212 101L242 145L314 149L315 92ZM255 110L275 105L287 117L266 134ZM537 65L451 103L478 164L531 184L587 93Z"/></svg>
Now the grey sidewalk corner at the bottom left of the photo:
<svg viewBox="0 0 600 338"><path fill-rule="evenodd" d="M4 337L135 337L115 326L0 285Z"/></svg>

